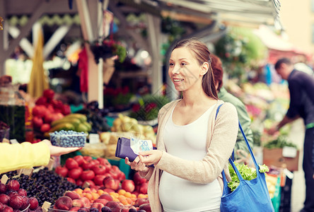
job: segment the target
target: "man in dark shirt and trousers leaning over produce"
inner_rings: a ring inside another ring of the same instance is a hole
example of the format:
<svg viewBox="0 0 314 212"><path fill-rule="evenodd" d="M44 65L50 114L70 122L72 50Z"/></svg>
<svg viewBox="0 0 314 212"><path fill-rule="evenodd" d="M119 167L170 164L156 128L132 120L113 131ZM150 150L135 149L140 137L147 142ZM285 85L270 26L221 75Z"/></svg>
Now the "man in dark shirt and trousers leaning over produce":
<svg viewBox="0 0 314 212"><path fill-rule="evenodd" d="M303 146L303 171L306 178L306 200L301 212L314 211L314 78L308 73L293 69L290 59L282 58L274 68L288 81L290 105L284 118L269 129L274 134L282 126L301 117L306 126Z"/></svg>

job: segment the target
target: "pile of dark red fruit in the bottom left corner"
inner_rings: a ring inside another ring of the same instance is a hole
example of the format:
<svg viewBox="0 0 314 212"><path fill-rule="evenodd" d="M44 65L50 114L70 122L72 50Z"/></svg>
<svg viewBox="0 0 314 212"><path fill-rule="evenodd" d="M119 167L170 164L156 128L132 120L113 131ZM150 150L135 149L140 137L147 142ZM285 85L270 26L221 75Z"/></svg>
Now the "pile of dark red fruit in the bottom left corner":
<svg viewBox="0 0 314 212"><path fill-rule="evenodd" d="M27 209L35 212L42 211L37 199L34 196L28 196L28 192L20 188L17 180L11 179L7 184L0 183L0 211L13 212Z"/></svg>

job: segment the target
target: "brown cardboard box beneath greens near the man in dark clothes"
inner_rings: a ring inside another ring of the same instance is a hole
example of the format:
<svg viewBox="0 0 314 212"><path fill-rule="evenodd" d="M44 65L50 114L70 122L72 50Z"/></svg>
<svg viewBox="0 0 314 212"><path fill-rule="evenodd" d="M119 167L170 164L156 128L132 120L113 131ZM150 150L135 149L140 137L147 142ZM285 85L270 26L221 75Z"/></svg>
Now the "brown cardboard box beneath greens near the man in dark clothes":
<svg viewBox="0 0 314 212"><path fill-rule="evenodd" d="M263 148L263 163L267 166L283 167L293 172L298 170L298 156L300 151L296 151L296 156L294 158L284 157L282 155L282 148Z"/></svg>

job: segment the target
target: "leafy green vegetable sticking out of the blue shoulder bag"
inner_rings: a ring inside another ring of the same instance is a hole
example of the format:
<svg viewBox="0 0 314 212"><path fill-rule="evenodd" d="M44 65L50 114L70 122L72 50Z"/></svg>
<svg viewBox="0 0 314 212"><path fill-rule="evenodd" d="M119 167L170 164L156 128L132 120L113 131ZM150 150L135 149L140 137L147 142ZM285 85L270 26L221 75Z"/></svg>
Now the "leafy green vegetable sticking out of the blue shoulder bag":
<svg viewBox="0 0 314 212"><path fill-rule="evenodd" d="M248 165L244 165L244 164L238 164L238 163L234 163L234 164L238 168L243 179L251 180L257 177L255 168L248 167ZM261 173L269 172L269 168L267 167L267 165L258 165L258 166L260 167ZM231 175L231 182L228 182L228 187L231 189L231 192L233 192L240 184L240 180L238 176L236 175L236 172L233 170L233 167L230 164L228 165L228 168Z"/></svg>

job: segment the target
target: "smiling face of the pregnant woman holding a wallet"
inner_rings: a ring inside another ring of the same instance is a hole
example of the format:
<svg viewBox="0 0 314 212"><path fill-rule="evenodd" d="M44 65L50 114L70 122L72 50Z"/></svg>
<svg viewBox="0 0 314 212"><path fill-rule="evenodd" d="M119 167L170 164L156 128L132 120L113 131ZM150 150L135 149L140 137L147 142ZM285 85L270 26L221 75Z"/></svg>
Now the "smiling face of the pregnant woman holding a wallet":
<svg viewBox="0 0 314 212"><path fill-rule="evenodd" d="M195 83L202 83L202 76L208 71L208 63L199 66L194 54L187 47L174 49L169 59L168 74L178 91L184 91Z"/></svg>

